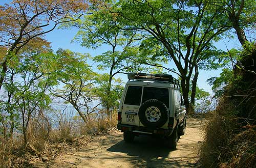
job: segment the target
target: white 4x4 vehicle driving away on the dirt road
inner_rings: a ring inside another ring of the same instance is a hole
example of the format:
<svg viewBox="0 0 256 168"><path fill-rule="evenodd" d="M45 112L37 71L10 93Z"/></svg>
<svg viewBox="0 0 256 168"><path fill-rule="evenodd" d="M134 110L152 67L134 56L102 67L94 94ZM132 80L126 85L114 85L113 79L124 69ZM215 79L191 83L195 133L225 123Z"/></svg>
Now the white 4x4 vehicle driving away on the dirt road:
<svg viewBox="0 0 256 168"><path fill-rule="evenodd" d="M172 75L128 73L118 111L118 130L125 142L140 134L159 135L175 149L185 133L186 111L179 81Z"/></svg>

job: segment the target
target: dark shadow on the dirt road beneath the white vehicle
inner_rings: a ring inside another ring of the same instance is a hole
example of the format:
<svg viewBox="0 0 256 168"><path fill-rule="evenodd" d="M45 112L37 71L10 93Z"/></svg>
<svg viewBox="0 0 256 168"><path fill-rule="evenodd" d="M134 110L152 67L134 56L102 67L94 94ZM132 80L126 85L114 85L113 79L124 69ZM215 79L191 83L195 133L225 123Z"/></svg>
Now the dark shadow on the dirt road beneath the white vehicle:
<svg viewBox="0 0 256 168"><path fill-rule="evenodd" d="M133 143L120 141L107 149L111 152L125 153L134 167L191 167L193 164L184 160L186 156L177 155L177 150L170 150L166 147L165 139L156 139L150 136L135 137ZM177 156L176 156L177 155Z"/></svg>

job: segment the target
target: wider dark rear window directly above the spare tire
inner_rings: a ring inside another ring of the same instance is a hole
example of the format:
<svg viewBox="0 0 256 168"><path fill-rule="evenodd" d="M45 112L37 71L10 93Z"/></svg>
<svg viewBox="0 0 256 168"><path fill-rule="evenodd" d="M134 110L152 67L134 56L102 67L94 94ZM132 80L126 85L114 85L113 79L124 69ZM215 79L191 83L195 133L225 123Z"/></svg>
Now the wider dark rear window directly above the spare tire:
<svg viewBox="0 0 256 168"><path fill-rule="evenodd" d="M150 99L158 99L169 107L169 92L167 88L144 87L142 102Z"/></svg>

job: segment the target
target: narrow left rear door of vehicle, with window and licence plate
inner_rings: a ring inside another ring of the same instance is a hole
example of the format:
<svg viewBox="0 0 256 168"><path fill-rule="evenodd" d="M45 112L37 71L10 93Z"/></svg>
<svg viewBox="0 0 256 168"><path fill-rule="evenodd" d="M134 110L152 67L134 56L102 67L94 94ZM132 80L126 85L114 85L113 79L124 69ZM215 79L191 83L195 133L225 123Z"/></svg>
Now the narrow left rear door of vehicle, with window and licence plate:
<svg viewBox="0 0 256 168"><path fill-rule="evenodd" d="M142 86L128 86L122 105L122 124L139 126Z"/></svg>

